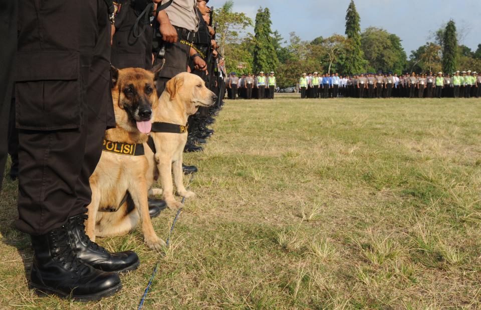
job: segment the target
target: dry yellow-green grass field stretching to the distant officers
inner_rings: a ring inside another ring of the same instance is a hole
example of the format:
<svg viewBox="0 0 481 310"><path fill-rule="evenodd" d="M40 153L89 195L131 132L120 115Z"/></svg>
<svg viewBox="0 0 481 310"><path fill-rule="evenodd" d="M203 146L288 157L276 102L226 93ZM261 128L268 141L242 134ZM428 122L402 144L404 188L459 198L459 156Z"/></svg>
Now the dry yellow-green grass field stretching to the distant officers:
<svg viewBox="0 0 481 310"><path fill-rule="evenodd" d="M481 308L481 100L227 100L166 255L138 229L100 239L141 266L100 302L38 297L0 200L0 308ZM188 177L186 177L186 181ZM154 225L164 239L175 213Z"/></svg>

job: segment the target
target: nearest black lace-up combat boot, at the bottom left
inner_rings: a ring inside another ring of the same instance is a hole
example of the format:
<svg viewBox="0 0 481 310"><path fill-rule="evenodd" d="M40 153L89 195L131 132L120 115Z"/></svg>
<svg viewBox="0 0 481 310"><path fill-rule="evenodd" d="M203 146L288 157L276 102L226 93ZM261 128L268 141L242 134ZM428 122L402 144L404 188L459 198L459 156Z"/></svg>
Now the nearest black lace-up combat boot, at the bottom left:
<svg viewBox="0 0 481 310"><path fill-rule="evenodd" d="M32 236L32 246L35 254L30 287L39 293L90 301L122 288L117 273L95 269L77 257L66 226Z"/></svg>

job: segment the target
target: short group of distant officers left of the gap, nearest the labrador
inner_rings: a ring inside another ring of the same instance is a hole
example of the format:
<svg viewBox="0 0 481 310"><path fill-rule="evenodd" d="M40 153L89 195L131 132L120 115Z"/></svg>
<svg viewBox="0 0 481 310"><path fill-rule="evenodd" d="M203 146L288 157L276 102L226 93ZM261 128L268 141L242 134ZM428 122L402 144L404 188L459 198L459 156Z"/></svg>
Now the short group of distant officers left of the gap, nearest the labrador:
<svg viewBox="0 0 481 310"><path fill-rule="evenodd" d="M249 73L242 74L240 77L235 72L230 72L225 85L228 98L234 100L237 95L245 99L274 99L274 93L277 90L274 71L271 71L268 76L261 71L257 76Z"/></svg>

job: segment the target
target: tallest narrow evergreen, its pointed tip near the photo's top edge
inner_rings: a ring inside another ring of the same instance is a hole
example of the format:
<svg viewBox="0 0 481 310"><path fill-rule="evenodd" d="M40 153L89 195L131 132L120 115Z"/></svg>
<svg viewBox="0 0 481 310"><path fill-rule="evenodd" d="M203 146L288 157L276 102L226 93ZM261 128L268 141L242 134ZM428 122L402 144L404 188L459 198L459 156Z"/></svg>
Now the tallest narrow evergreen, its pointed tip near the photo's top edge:
<svg viewBox="0 0 481 310"><path fill-rule="evenodd" d="M344 73L355 74L364 70L365 60L361 49L361 18L356 10L354 0L351 0L346 13L346 35L349 46L344 59Z"/></svg>

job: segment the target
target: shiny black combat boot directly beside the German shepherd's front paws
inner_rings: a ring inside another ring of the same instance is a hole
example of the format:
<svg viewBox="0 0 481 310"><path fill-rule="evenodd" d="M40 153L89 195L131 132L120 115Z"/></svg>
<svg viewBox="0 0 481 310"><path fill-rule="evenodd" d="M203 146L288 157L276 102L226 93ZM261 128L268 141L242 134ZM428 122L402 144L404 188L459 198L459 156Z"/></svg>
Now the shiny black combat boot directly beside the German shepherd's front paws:
<svg viewBox="0 0 481 310"><path fill-rule="evenodd" d="M77 256L92 267L103 271L126 272L135 270L140 264L139 256L133 251L109 253L105 248L92 242L85 234L87 214L72 216L68 220L72 249Z"/></svg>

